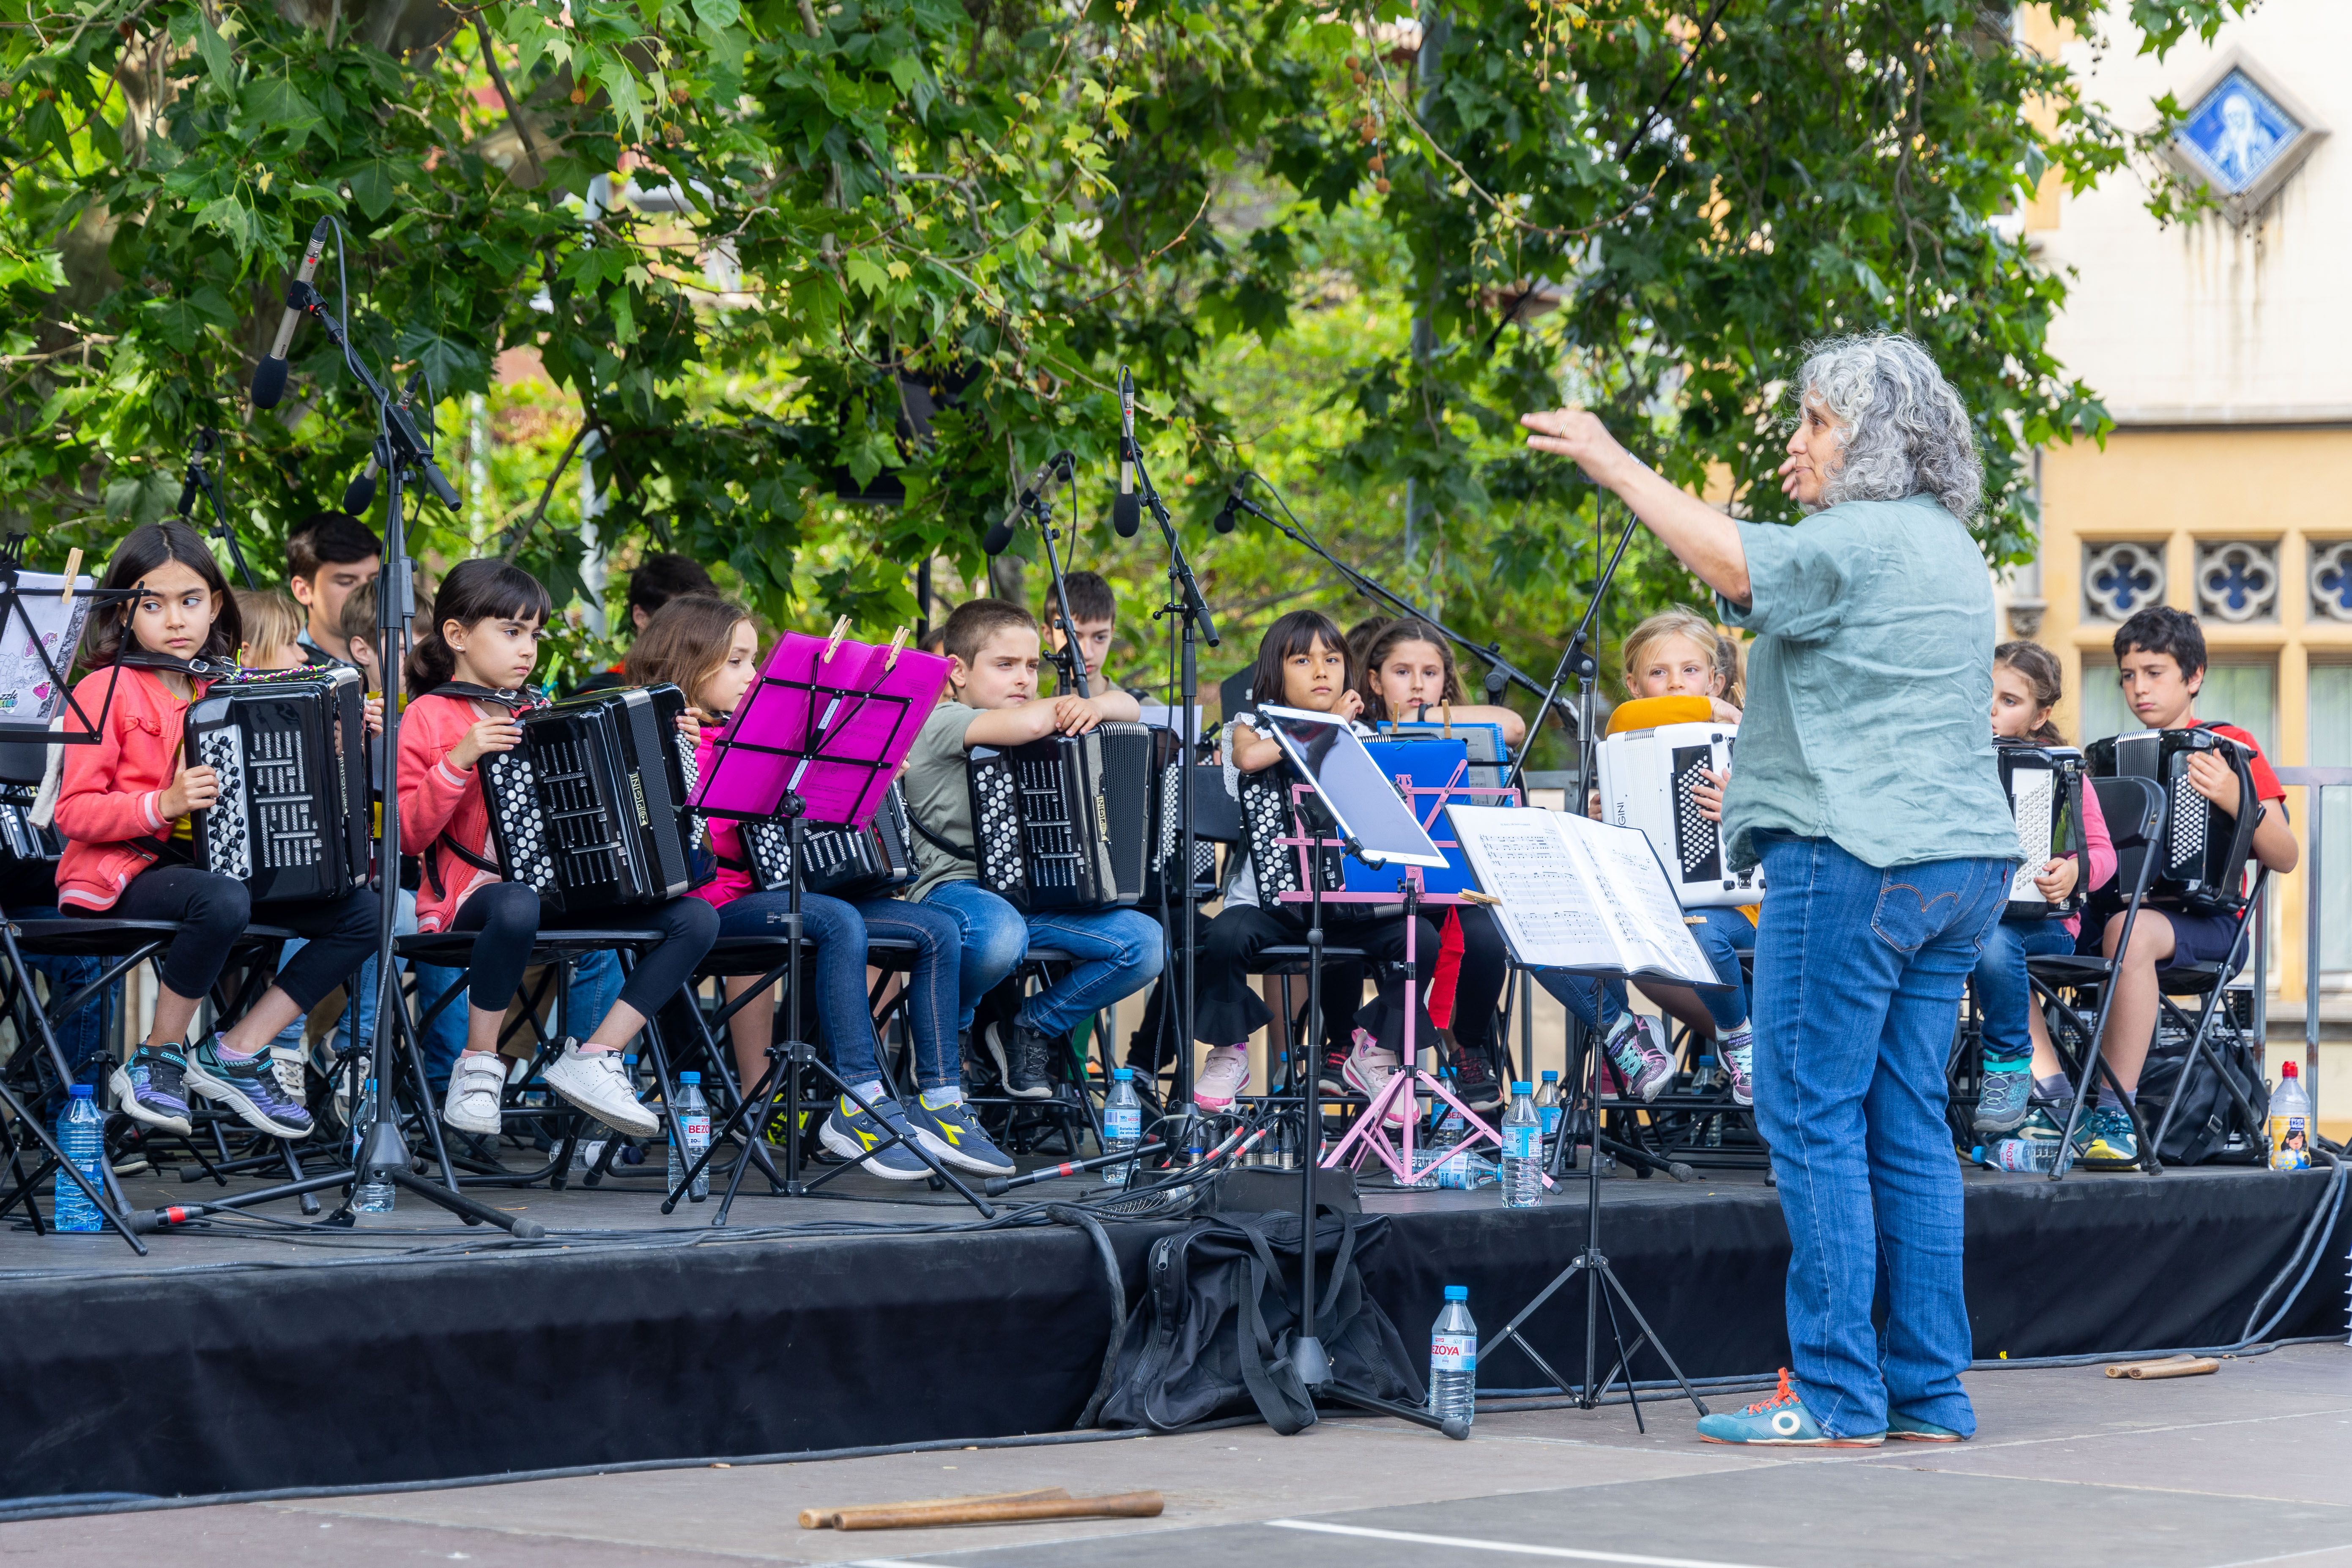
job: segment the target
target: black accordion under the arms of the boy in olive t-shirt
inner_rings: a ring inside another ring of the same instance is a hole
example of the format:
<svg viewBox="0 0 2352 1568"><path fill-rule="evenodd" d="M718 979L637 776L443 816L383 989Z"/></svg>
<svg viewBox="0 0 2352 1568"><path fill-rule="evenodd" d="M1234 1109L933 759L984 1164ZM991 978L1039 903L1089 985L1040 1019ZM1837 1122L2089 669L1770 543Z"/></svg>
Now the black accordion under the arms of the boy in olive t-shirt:
<svg viewBox="0 0 2352 1568"><path fill-rule="evenodd" d="M1160 769L1148 724L971 750L978 882L1023 912L1143 903Z"/></svg>

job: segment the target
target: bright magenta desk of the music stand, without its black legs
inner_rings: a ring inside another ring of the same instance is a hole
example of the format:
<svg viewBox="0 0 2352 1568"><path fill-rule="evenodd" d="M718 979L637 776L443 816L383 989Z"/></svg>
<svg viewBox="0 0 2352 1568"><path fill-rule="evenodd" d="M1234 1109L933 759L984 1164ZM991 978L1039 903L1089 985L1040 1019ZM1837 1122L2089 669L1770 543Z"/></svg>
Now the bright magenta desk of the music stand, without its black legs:
<svg viewBox="0 0 2352 1568"><path fill-rule="evenodd" d="M786 632L736 703L694 785L696 811L863 827L938 705L948 661L920 649Z"/></svg>

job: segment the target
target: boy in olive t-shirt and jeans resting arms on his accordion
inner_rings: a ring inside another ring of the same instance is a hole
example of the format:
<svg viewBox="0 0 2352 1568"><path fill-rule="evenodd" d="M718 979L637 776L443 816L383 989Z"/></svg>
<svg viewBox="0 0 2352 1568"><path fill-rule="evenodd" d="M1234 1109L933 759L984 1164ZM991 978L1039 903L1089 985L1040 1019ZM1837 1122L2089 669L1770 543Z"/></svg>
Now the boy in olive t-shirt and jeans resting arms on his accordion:
<svg viewBox="0 0 2352 1568"><path fill-rule="evenodd" d="M1103 719L1134 719L1136 698L1105 691L1096 698L1037 696L1037 618L1004 599L960 604L946 625L948 689L931 710L901 788L915 825L917 903L946 910L962 929L964 954L955 1027L1030 950L1068 954L1070 969L1023 1001L1009 1039L988 1030L988 1053L1016 1100L1051 1100L1051 1063L1068 1053L1080 1018L1136 992L1164 961L1160 924L1136 910L1056 910L1021 914L976 882L971 858L974 745L1009 748L1054 733L1082 736Z"/></svg>

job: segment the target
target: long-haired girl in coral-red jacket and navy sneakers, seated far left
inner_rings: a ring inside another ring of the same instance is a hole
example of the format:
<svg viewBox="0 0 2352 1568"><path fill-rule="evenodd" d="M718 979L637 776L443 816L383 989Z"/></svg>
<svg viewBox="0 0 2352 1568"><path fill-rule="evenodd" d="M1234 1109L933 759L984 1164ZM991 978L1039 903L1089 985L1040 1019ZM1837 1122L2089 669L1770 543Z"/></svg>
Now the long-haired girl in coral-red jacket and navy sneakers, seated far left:
<svg viewBox="0 0 2352 1568"><path fill-rule="evenodd" d="M198 1001L245 936L252 900L242 882L193 865L188 816L219 799L221 778L183 766L181 736L188 703L202 696L207 672L228 665L242 628L221 567L183 522L134 529L115 548L103 585L141 595L89 618L85 658L94 670L73 696L80 715L99 724L99 741L59 748L66 771L56 830L66 849L56 860L56 903L66 914L179 926L162 959L155 1025L113 1072L115 1105L134 1121L186 1135L193 1088L263 1133L308 1138L310 1112L278 1086L268 1046L374 950L376 896L353 889L341 898L270 905L268 924L310 940L245 1018L202 1044L188 1041ZM73 708L66 715L68 729L82 726Z"/></svg>

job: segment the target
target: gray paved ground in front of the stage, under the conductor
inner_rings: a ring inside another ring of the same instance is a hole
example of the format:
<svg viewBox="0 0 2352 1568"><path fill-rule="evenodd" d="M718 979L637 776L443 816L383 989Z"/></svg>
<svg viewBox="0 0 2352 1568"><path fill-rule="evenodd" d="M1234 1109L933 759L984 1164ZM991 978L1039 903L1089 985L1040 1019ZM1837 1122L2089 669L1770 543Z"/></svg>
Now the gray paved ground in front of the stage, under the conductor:
<svg viewBox="0 0 2352 1568"><path fill-rule="evenodd" d="M2213 1378L1971 1378L1959 1448L1738 1453L1649 1434L1618 1406L1489 1415L1468 1443L1331 1420L1279 1439L1176 1439L649 1472L435 1493L0 1526L0 1559L54 1563L953 1563L1155 1568L1588 1561L1653 1568L2352 1568L2352 1349L2230 1361ZM1065 1486L1160 1488L1150 1521L800 1530L811 1505Z"/></svg>

